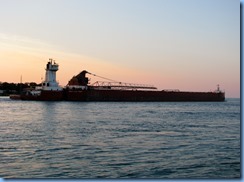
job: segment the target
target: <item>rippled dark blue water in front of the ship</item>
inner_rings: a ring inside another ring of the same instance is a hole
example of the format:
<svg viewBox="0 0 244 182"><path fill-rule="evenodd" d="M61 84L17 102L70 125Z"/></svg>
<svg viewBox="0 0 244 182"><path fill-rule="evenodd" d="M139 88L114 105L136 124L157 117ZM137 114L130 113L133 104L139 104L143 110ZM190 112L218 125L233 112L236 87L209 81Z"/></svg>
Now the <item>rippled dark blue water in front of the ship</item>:
<svg viewBox="0 0 244 182"><path fill-rule="evenodd" d="M239 178L240 99L32 102L0 97L2 178Z"/></svg>

